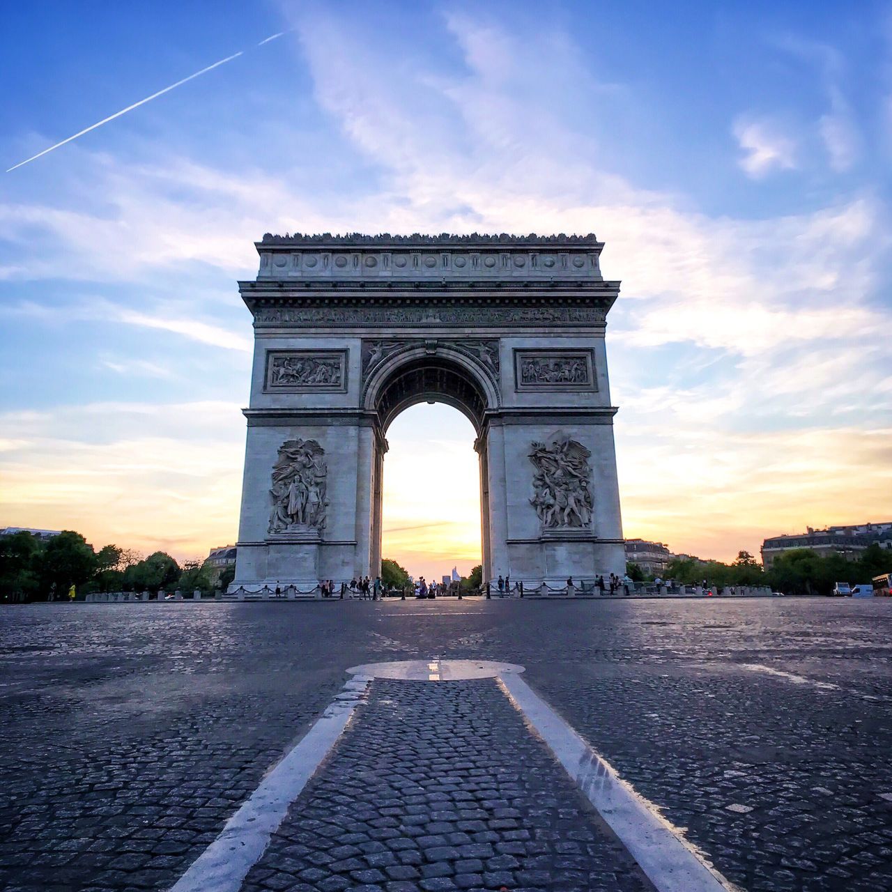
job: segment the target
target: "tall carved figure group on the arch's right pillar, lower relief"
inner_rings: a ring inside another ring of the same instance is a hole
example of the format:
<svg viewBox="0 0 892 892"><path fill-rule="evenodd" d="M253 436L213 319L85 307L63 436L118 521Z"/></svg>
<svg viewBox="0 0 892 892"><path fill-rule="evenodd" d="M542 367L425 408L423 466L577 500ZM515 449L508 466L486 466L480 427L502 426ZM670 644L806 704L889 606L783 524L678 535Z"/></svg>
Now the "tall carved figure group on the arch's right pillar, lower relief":
<svg viewBox="0 0 892 892"><path fill-rule="evenodd" d="M530 460L533 499L543 530L582 529L591 524L591 451L570 439L552 442L550 449L533 442Z"/></svg>

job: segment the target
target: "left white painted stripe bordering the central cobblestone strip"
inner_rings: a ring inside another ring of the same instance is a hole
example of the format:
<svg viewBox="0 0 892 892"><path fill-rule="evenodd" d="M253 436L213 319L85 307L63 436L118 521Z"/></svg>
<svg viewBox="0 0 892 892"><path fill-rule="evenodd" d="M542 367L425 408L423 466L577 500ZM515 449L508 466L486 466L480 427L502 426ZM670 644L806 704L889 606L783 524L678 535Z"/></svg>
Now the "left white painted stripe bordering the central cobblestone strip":
<svg viewBox="0 0 892 892"><path fill-rule="evenodd" d="M335 746L368 694L368 675L354 675L310 731L268 773L170 892L238 892L293 801Z"/></svg>

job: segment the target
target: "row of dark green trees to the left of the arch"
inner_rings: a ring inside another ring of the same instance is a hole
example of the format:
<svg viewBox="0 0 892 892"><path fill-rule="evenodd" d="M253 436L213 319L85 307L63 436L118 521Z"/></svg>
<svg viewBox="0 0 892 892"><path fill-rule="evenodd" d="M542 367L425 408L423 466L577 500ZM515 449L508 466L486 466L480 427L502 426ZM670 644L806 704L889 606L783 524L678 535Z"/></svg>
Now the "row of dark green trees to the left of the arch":
<svg viewBox="0 0 892 892"><path fill-rule="evenodd" d="M228 568L220 584L231 582ZM228 576L228 578L227 578ZM49 540L31 533L0 536L0 599L62 600L72 586L82 597L91 591L212 591L210 561L185 561L180 566L164 551L143 558L136 551L104 545L96 551L80 534L65 530Z"/></svg>

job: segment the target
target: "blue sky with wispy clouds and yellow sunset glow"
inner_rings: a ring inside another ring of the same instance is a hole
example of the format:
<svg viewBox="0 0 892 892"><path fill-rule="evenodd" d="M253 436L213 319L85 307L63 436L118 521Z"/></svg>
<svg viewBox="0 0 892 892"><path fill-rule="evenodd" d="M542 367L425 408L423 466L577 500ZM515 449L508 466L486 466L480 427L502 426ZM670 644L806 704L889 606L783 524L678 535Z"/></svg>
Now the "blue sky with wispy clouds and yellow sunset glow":
<svg viewBox="0 0 892 892"><path fill-rule="evenodd" d="M626 536L892 519L890 4L43 0L0 84L0 526L235 541L235 283L294 231L595 232ZM467 572L470 425L388 440L384 555Z"/></svg>

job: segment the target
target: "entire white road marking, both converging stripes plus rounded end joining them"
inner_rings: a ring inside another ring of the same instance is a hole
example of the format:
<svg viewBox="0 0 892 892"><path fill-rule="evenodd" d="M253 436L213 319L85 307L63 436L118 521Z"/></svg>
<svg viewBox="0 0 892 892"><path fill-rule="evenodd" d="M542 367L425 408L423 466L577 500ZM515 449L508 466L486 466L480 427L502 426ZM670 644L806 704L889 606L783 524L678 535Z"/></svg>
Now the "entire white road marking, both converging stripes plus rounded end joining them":
<svg viewBox="0 0 892 892"><path fill-rule="evenodd" d="M436 672L432 672L436 669ZM407 660L354 666L343 693L326 708L303 739L261 781L229 819L219 837L198 857L169 892L239 892L260 860L270 836L285 819L319 764L334 747L373 678L406 681L457 681L495 678L598 810L657 892L729 892L735 887L706 863L681 830L659 814L656 805L622 780L607 761L564 722L520 677L524 667L489 660ZM892 794L879 794L892 799ZM748 806L729 806L743 810Z"/></svg>

